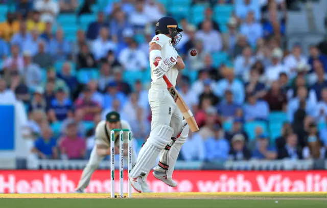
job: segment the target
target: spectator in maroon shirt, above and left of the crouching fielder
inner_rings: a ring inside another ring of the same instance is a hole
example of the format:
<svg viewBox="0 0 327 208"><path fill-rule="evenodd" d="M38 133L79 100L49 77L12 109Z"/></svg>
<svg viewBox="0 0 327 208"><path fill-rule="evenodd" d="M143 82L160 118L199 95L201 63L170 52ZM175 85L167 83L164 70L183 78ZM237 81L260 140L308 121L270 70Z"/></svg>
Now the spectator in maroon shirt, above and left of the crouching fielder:
<svg viewBox="0 0 327 208"><path fill-rule="evenodd" d="M83 98L77 99L75 102L76 109L84 111L84 121L93 121L97 113L101 112L101 105L92 101L92 91L89 86L83 89Z"/></svg>

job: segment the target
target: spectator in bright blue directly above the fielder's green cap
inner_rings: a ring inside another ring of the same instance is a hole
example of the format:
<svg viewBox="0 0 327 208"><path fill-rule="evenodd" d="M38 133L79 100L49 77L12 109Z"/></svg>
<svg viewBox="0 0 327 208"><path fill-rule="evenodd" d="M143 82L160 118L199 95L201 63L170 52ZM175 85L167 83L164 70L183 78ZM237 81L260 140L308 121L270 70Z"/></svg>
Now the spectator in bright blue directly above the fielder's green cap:
<svg viewBox="0 0 327 208"><path fill-rule="evenodd" d="M103 108L106 109L112 107L113 100L115 99L119 100L122 106L125 105L126 96L118 90L117 83L112 81L107 86L106 94L103 99Z"/></svg>

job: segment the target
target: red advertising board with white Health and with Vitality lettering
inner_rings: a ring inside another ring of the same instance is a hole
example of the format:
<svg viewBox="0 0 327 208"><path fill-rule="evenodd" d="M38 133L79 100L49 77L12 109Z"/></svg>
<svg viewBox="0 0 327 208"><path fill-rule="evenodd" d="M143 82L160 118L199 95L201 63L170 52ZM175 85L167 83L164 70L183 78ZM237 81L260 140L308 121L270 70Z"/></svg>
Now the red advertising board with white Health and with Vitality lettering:
<svg viewBox="0 0 327 208"><path fill-rule="evenodd" d="M74 192L82 171L0 171L0 193ZM118 172L117 172L118 174ZM127 174L127 172L125 173ZM327 171L180 171L174 172L176 188L168 187L150 173L153 192L326 192ZM119 190L118 181L115 191ZM128 183L124 181L124 189ZM110 171L98 170L85 190L110 193Z"/></svg>

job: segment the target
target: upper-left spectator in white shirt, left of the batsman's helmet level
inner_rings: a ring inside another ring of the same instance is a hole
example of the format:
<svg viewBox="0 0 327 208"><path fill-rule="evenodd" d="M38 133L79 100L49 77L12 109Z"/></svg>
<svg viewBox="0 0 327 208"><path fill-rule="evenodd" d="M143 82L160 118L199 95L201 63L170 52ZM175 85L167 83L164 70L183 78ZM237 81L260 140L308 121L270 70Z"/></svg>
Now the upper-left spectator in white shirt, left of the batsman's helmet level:
<svg viewBox="0 0 327 208"><path fill-rule="evenodd" d="M100 36L92 43L92 53L96 60L104 58L109 50L115 50L116 45L109 39L108 28L101 28Z"/></svg>

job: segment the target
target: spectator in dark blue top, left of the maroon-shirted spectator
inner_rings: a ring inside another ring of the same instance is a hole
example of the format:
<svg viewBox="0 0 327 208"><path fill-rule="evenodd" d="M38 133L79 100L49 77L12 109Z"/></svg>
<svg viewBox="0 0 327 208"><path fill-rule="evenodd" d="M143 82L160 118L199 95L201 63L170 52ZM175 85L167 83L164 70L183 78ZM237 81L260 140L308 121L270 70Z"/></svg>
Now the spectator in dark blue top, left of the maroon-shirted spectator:
<svg viewBox="0 0 327 208"><path fill-rule="evenodd" d="M55 99L48 106L48 118L51 122L63 121L73 116L73 102L67 98L64 88L56 90Z"/></svg>

